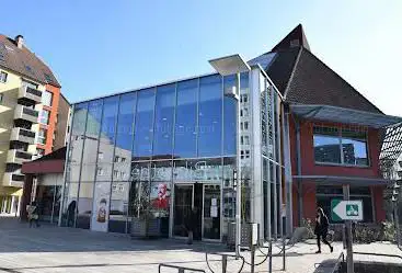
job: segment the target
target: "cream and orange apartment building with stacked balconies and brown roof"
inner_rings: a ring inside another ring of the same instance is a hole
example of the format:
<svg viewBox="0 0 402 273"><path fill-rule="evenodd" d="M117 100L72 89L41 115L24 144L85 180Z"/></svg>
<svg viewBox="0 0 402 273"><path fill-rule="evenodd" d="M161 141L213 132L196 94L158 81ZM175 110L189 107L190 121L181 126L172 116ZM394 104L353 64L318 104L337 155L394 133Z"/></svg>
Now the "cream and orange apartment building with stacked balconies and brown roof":
<svg viewBox="0 0 402 273"><path fill-rule="evenodd" d="M18 214L23 162L51 152L60 83L18 35L0 35L0 212ZM68 116L66 117L68 118ZM62 120L62 118L61 118Z"/></svg>

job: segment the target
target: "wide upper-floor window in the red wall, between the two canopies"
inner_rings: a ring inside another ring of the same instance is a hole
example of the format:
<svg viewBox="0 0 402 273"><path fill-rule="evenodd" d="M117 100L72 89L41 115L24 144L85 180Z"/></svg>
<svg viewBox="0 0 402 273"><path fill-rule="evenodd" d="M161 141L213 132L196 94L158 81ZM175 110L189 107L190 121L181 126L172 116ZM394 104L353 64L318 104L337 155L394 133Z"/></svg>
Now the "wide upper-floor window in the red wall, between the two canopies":
<svg viewBox="0 0 402 273"><path fill-rule="evenodd" d="M368 166L366 132L320 126L313 132L315 162Z"/></svg>

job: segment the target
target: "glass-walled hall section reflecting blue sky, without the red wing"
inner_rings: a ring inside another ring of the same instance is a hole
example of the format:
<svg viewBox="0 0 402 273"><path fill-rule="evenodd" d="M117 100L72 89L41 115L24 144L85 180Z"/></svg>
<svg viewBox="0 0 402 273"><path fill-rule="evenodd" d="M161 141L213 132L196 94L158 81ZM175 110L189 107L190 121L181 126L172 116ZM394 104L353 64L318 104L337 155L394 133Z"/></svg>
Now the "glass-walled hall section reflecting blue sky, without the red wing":
<svg viewBox="0 0 402 273"><path fill-rule="evenodd" d="M282 96L261 66L272 57L238 75L76 103L60 225L136 234L147 214L161 236L180 238L194 208L195 239L225 241L239 164L242 220L259 223L261 238L280 234Z"/></svg>

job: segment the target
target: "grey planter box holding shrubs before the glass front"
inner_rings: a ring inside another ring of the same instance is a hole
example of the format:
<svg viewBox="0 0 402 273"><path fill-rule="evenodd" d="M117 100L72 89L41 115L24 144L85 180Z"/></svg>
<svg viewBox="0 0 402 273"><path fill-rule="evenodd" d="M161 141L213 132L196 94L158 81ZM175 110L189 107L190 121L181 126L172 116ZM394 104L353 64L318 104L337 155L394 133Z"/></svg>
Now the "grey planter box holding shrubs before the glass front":
<svg viewBox="0 0 402 273"><path fill-rule="evenodd" d="M162 237L161 228L162 228L161 218L148 219L148 232L147 232L147 223L145 219L133 218L130 236L136 238Z"/></svg>

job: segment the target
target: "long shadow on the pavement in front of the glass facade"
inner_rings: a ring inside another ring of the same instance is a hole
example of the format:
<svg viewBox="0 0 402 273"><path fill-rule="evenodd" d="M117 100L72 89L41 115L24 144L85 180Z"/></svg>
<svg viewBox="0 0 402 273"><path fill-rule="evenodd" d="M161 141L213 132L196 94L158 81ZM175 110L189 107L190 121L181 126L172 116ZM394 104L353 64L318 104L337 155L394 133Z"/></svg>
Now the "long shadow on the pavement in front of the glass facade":
<svg viewBox="0 0 402 273"><path fill-rule="evenodd" d="M96 252L96 251L163 251L227 252L221 243L187 244L174 239L131 239L128 235L96 232L79 228L42 224L30 228L16 218L0 217L0 253L10 252Z"/></svg>

